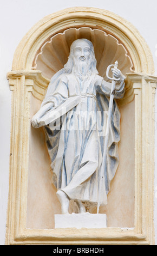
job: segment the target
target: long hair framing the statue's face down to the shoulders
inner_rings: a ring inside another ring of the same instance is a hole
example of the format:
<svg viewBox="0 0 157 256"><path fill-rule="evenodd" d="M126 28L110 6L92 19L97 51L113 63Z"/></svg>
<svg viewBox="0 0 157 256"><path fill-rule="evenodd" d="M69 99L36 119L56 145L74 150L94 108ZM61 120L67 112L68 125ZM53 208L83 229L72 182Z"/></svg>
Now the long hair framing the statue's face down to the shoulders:
<svg viewBox="0 0 157 256"><path fill-rule="evenodd" d="M90 47L90 59L89 59L89 69L90 69L90 72L91 73L94 73L94 74L98 74L98 71L96 69L96 58L95 58L95 53L94 53L94 47L93 47L93 44L92 42L90 42L89 40L87 39L77 39L75 40L72 44L71 44L71 47L70 47L70 54L69 54L69 57L68 57L68 62L64 65L64 70L66 71L66 73L70 74L72 71L73 71L73 68L74 68L74 45L80 41L80 40L83 40L85 42L87 42L87 44L89 45Z"/></svg>

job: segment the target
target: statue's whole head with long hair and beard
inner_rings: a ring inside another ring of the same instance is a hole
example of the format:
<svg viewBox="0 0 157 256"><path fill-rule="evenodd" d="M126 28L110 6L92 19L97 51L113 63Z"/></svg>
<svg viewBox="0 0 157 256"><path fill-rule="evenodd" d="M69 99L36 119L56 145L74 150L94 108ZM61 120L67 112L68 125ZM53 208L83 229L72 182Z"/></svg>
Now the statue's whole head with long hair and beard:
<svg viewBox="0 0 157 256"><path fill-rule="evenodd" d="M64 65L67 73L79 75L98 74L93 44L87 39L77 39L71 44L68 62Z"/></svg>

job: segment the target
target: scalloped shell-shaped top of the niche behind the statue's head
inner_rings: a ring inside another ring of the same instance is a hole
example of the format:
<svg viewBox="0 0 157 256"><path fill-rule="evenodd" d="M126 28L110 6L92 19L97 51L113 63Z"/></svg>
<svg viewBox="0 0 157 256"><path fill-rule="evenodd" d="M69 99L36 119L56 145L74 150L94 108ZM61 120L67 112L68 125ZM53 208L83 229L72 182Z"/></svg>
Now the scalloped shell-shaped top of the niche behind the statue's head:
<svg viewBox="0 0 157 256"><path fill-rule="evenodd" d="M32 69L41 70L42 75L50 79L67 63L70 46L76 39L86 38L93 43L97 70L107 81L106 69L117 60L122 74L134 71L134 65L125 46L113 35L100 29L88 27L69 28L63 33L51 36L37 51Z"/></svg>

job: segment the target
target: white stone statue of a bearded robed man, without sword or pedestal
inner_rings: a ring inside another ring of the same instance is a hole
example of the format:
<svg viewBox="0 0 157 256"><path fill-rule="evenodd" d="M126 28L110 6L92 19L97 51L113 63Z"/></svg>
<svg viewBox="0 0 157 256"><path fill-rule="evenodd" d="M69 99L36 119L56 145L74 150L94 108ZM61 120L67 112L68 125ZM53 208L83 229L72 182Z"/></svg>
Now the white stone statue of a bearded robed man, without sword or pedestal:
<svg viewBox="0 0 157 256"><path fill-rule="evenodd" d="M125 77L117 68L112 72L120 79L114 90L114 98L120 99L125 93ZM98 201L107 204L110 181L119 163L120 141L120 111L114 100L102 175L110 91L111 83L96 70L93 44L87 39L75 40L67 64L51 78L41 108L31 120L32 126L45 130L62 214L68 214L71 199L80 213Z"/></svg>

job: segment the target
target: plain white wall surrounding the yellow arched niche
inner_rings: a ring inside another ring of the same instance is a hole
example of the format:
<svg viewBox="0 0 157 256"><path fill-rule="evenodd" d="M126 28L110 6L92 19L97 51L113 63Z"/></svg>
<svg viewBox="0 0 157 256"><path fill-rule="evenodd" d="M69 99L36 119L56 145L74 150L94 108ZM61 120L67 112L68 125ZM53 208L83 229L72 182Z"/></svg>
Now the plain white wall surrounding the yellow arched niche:
<svg viewBox="0 0 157 256"><path fill-rule="evenodd" d="M11 70L15 49L28 30L44 16L58 10L86 6L112 11L131 22L151 48L157 75L157 33L155 0L0 0L0 245L5 242L6 209L9 187L11 92L6 73ZM157 96L156 96L157 102ZM157 104L155 132L157 135ZM157 136L155 135L155 158ZM155 161L155 173L157 161ZM157 245L157 174L155 175L155 244Z"/></svg>

